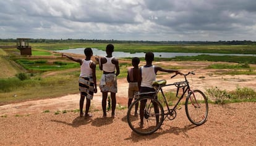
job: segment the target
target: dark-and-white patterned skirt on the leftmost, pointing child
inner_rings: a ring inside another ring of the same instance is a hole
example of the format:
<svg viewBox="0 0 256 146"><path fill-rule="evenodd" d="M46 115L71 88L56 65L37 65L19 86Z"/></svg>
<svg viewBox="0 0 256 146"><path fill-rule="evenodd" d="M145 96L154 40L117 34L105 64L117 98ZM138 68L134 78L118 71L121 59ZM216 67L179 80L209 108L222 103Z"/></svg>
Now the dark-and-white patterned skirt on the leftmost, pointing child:
<svg viewBox="0 0 256 146"><path fill-rule="evenodd" d="M93 78L92 76L79 77L79 91L87 99L93 99Z"/></svg>

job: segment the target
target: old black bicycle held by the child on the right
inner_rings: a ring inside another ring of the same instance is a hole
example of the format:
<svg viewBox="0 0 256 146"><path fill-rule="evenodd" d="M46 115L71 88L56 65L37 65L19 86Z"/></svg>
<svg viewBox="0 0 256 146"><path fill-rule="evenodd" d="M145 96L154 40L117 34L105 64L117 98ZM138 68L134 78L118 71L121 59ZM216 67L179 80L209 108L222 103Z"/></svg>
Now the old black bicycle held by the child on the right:
<svg viewBox="0 0 256 146"><path fill-rule="evenodd" d="M139 99L135 100L127 112L127 122L129 123L132 131L141 135L153 134L153 132L160 129L163 121L168 118L169 120L174 120L176 118L176 109L181 108L179 103L186 97L186 115L189 121L197 126L205 123L208 116L208 102L207 97L200 90L190 89L189 81L187 80L187 75L195 75L194 71L190 71L186 75L184 75L185 81L176 82L173 84L166 84L166 80L155 81L152 85L155 87L155 92L143 92L137 93L139 95ZM176 75L174 75L176 76ZM174 78L171 76L171 78ZM176 102L173 108L170 108L168 102L166 100L166 96L163 92L163 87L166 86L176 86L176 97L179 100ZM182 89L183 93L179 96L179 89ZM159 102L157 98L158 92L161 92L163 95L163 104L165 103L165 107L167 110L164 111L163 105ZM139 114L135 111L135 105L139 103ZM132 115L134 112L134 115Z"/></svg>

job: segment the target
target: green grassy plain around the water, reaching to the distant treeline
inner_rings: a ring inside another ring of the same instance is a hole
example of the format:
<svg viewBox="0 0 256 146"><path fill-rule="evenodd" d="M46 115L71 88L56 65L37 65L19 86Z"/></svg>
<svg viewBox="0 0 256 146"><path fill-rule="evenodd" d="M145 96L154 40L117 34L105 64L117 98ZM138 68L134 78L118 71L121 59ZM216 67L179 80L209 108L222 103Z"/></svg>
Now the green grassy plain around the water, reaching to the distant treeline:
<svg viewBox="0 0 256 146"><path fill-rule="evenodd" d="M1 44L1 43L0 43ZM30 99L59 97L78 92L77 79L79 63L61 57L52 51L77 47L95 47L105 50L108 43L30 43L32 56L20 56L17 49L0 49L0 105L21 102ZM115 51L124 52L214 52L214 53L247 53L256 54L254 45L198 45L198 44L147 44L147 43L113 43ZM142 62L144 61L141 58ZM195 57L175 57L171 59L156 58L155 61L201 60L212 62L235 62L238 65L215 65L209 68L233 68L236 72L230 74L255 75L256 57L211 56L198 55ZM245 68L241 65L247 65ZM161 63L159 64L161 66ZM126 78L130 59L120 59L121 73L118 78ZM165 66L166 67L166 66ZM172 67L166 68L184 68ZM191 67L189 67L191 68ZM101 71L96 69L99 81ZM14 98L16 94L19 98Z"/></svg>

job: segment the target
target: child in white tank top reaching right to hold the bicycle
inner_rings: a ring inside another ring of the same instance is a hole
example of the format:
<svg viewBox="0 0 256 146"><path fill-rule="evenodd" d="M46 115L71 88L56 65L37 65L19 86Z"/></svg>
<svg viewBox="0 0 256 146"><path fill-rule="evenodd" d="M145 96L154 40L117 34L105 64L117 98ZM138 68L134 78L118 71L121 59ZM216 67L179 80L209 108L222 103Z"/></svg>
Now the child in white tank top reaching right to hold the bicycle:
<svg viewBox="0 0 256 146"><path fill-rule="evenodd" d="M145 60L146 65L143 67L140 67L139 70L139 91L140 92L155 92L155 89L152 86L153 81L156 80L156 73L157 71L164 71L167 73L176 73L183 75L181 72L177 70L170 70L170 69L164 69L161 67L157 67L155 65L152 65L152 62L154 60L154 54L153 52L147 52L145 54ZM145 102L140 102L140 127L143 127L143 109L145 108ZM155 108L155 110L158 110L158 108ZM157 112L157 111L156 111ZM156 122L158 122L159 117L156 117ZM157 124L157 123L156 123Z"/></svg>

